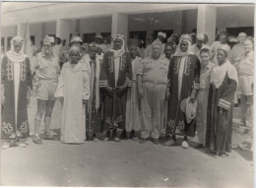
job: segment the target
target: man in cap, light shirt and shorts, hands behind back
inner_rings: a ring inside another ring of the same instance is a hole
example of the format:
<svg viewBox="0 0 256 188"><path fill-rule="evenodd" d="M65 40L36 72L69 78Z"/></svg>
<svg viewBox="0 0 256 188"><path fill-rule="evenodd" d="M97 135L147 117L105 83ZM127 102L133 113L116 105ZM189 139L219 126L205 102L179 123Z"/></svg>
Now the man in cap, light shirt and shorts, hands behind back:
<svg viewBox="0 0 256 188"><path fill-rule="evenodd" d="M34 117L34 137L32 138L32 142L35 144L42 144L39 133L41 117L44 111L44 138L54 138L53 132L50 131L50 122L60 67L59 57L53 53L53 45L54 38L46 35L43 39L42 52L36 54L34 63L37 111Z"/></svg>

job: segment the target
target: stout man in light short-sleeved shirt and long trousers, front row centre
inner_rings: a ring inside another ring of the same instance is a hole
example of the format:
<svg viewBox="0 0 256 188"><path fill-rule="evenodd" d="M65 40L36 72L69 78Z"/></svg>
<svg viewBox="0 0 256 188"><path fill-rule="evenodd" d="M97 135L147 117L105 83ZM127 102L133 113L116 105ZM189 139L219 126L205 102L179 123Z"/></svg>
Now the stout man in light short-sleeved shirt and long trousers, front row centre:
<svg viewBox="0 0 256 188"><path fill-rule="evenodd" d="M160 55L161 42L152 44L152 56L143 59L137 73L138 94L141 98L142 128L140 143L153 139L159 145L160 133L165 128L167 101L165 90L169 60Z"/></svg>

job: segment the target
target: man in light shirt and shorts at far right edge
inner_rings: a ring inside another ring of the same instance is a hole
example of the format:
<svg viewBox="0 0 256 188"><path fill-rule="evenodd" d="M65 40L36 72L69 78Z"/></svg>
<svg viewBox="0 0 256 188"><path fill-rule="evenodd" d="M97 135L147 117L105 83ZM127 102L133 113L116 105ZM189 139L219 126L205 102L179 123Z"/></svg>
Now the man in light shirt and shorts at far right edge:
<svg viewBox="0 0 256 188"><path fill-rule="evenodd" d="M241 121L244 126L253 125L253 76L254 76L254 51L253 42L246 39L243 43L244 54L237 67L239 86L241 91ZM247 114L248 113L248 114Z"/></svg>

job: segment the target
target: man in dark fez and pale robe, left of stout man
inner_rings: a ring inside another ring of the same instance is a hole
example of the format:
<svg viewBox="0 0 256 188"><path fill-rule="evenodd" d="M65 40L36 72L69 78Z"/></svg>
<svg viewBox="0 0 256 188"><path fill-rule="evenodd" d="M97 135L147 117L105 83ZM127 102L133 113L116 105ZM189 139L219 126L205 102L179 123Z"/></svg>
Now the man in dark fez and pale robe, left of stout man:
<svg viewBox="0 0 256 188"><path fill-rule="evenodd" d="M141 130L141 112L140 99L138 97L137 73L142 63L142 58L136 56L138 50L138 40L128 40L128 49L132 60L132 75L130 85L127 92L126 102L126 116L125 116L125 130L129 138L137 141L139 138L139 131ZM134 135L131 132L134 131Z"/></svg>

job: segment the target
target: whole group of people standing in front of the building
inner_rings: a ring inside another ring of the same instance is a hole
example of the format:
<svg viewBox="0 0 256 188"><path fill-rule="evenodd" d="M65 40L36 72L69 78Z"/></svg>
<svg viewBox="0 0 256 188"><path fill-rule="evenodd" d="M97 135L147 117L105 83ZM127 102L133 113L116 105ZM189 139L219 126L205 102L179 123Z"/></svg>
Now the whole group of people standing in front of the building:
<svg viewBox="0 0 256 188"><path fill-rule="evenodd" d="M164 135L164 146L175 145L176 137L182 136L181 147L187 149L187 138L197 131L196 148L210 148L218 156L226 156L231 147L238 84L237 70L228 60L230 47L222 40L214 47L207 46L203 43L206 34L198 34L195 43L191 34L182 34L178 43L175 36L163 43L165 37L159 32L150 44L149 55L142 58L139 40L128 39L126 48L122 34L112 36L111 47L105 52L92 42L85 54L83 41L76 35L68 53L59 55L52 50L54 38L46 35L42 51L35 56L33 73L23 51L23 38L13 37L12 48L2 60L1 139L6 141L2 149L27 146L23 140L30 136L27 105L34 76L35 144L42 144L43 113L43 139L54 139L50 122L54 101L59 98L62 143L131 138L141 144L152 140L159 145ZM246 94L252 94L251 39L245 39L244 51L238 62L239 81L246 83ZM245 98L250 101L249 96ZM120 137L118 129L122 130ZM103 138L98 136L101 132Z"/></svg>

